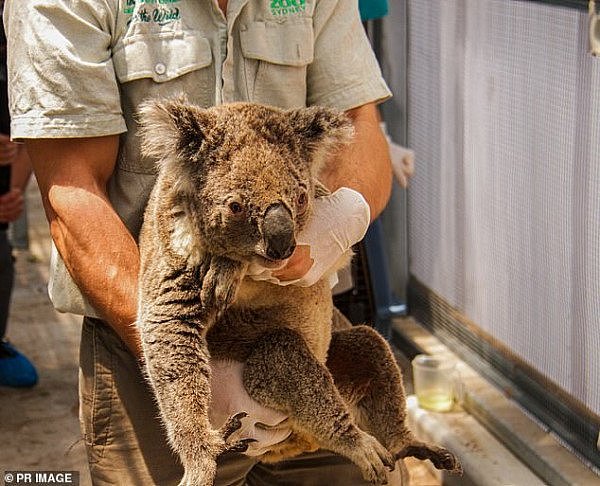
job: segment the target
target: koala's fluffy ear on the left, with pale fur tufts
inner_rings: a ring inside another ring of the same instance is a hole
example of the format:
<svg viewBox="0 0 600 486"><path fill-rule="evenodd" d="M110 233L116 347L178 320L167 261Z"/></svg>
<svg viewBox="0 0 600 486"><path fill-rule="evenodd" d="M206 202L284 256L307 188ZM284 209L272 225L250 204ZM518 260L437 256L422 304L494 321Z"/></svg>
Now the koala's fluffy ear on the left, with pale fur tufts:
<svg viewBox="0 0 600 486"><path fill-rule="evenodd" d="M213 125L206 110L184 98L145 101L138 114L142 154L159 164L193 159Z"/></svg>

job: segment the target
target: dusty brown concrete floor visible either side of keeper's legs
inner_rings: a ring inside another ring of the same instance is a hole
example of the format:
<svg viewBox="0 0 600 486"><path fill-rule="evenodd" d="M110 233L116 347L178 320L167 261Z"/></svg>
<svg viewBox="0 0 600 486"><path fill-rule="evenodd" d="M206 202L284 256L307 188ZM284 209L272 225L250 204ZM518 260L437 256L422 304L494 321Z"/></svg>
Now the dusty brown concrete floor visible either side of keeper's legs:
<svg viewBox="0 0 600 486"><path fill-rule="evenodd" d="M36 364L30 390L0 388L0 472L69 470L91 484L77 420L80 318L54 311L47 297L50 239L35 183L28 191L30 250L16 252L17 278L8 338ZM407 460L412 486L439 481L417 460ZM348 485L351 486L351 485Z"/></svg>

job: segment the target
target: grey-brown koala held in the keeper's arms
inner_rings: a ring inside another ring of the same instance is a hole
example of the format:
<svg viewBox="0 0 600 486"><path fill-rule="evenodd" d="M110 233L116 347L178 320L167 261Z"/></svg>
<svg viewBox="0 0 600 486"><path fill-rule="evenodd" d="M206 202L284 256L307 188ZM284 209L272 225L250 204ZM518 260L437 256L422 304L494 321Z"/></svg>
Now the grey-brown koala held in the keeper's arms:
<svg viewBox="0 0 600 486"><path fill-rule="evenodd" d="M317 175L351 142L351 121L320 107L202 109L177 99L146 102L140 126L159 170L139 240L137 326L185 469L180 484L212 484L219 454L248 447L230 440L243 413L220 430L208 420L211 357L245 363L249 395L289 417L291 435L263 461L325 448L373 484L406 456L459 472L452 453L407 428L386 341L367 326L332 326L327 278L299 287L246 276L252 263L277 267L292 255L313 201L327 194Z"/></svg>

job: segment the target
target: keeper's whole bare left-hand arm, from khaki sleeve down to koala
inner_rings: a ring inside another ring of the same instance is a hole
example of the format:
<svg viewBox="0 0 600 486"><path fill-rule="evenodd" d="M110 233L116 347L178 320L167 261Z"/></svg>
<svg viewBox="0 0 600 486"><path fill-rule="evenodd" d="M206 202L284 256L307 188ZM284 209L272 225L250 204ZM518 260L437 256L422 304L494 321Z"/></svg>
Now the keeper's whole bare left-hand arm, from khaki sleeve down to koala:
<svg viewBox="0 0 600 486"><path fill-rule="evenodd" d="M50 233L69 273L139 358L139 252L106 192L118 144L117 135L26 140Z"/></svg>

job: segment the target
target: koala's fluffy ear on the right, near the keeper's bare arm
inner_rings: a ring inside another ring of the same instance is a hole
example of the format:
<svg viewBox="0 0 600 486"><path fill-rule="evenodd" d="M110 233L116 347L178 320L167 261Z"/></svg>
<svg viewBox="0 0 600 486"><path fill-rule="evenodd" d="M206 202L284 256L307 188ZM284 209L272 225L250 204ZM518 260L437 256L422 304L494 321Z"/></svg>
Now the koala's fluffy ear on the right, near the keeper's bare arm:
<svg viewBox="0 0 600 486"><path fill-rule="evenodd" d="M309 152L311 170L316 173L327 156L350 143L354 127L341 111L313 106L290 111L294 136Z"/></svg>

